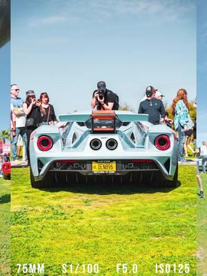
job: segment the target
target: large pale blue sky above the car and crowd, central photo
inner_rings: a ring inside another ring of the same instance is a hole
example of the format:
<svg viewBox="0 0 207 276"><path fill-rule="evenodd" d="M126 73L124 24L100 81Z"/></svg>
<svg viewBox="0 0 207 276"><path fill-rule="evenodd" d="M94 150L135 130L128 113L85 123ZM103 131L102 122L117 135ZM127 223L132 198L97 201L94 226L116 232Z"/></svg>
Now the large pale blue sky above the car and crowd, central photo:
<svg viewBox="0 0 207 276"><path fill-rule="evenodd" d="M11 81L47 91L57 114L89 110L100 80L137 112L146 86L196 95L191 0L12 0Z"/></svg>

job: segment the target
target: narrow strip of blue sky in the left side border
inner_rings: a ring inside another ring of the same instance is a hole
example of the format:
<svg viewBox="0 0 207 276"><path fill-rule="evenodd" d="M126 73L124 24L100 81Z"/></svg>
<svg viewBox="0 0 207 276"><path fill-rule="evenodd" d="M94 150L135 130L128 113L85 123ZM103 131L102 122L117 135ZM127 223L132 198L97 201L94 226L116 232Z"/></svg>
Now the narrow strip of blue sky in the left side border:
<svg viewBox="0 0 207 276"><path fill-rule="evenodd" d="M10 126L10 43L0 48L0 130Z"/></svg>

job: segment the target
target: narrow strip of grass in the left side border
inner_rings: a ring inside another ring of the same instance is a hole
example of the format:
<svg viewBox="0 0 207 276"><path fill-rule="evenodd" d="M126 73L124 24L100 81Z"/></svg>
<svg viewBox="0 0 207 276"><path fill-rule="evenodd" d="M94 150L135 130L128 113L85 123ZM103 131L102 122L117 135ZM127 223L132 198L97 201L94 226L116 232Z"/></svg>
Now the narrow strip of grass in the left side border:
<svg viewBox="0 0 207 276"><path fill-rule="evenodd" d="M10 180L0 178L0 275L10 275Z"/></svg>

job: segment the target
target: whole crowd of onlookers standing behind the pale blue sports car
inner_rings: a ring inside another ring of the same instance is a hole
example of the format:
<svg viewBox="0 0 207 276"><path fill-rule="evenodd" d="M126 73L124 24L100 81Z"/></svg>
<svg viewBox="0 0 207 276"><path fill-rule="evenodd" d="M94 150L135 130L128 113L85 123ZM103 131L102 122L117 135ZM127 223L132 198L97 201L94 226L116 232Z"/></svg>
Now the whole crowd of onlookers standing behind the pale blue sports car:
<svg viewBox="0 0 207 276"><path fill-rule="evenodd" d="M144 98L139 103L139 114L148 114L148 121L152 124L166 124L170 128L174 123L178 138L178 161L185 164L188 150L196 154L196 118L190 118L188 94L186 89L177 91L172 101L171 110L173 119L170 119L163 103L164 95L153 86L147 86ZM33 130L41 124L56 124L55 110L49 103L47 92L42 92L39 99L33 90L26 91L26 100L19 97L17 84L11 85L11 150L13 164L18 164L21 158L21 146L24 144L23 161L30 163L29 141ZM97 110L118 110L119 97L106 88L104 81L97 83L97 90L92 94L91 108ZM193 148L190 146L193 135ZM205 159L206 158L206 159ZM204 163L207 161L207 152L204 154Z"/></svg>

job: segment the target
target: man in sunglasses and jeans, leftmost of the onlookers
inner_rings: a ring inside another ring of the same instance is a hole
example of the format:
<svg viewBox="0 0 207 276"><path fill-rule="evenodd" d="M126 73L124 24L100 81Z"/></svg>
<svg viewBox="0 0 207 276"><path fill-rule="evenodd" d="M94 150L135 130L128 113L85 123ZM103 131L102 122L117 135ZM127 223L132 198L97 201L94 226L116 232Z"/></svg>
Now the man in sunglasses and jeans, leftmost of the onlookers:
<svg viewBox="0 0 207 276"><path fill-rule="evenodd" d="M11 85L11 151L14 164L19 164L17 159L17 140L18 136L21 135L25 148L28 144L26 135L26 115L23 112L23 99L19 96L19 88L17 84ZM24 161L27 161L27 155Z"/></svg>

